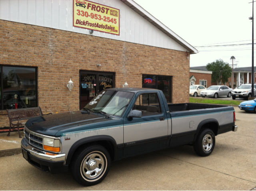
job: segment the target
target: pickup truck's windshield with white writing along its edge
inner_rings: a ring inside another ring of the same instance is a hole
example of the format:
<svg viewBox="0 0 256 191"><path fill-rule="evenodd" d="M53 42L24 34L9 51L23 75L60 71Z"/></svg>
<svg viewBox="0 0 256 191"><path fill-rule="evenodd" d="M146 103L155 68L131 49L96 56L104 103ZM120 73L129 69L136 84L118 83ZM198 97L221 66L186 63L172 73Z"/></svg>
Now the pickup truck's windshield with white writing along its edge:
<svg viewBox="0 0 256 191"><path fill-rule="evenodd" d="M134 93L131 92L105 90L95 96L84 108L121 116L133 95Z"/></svg>

